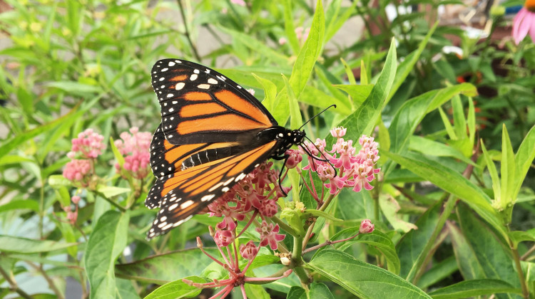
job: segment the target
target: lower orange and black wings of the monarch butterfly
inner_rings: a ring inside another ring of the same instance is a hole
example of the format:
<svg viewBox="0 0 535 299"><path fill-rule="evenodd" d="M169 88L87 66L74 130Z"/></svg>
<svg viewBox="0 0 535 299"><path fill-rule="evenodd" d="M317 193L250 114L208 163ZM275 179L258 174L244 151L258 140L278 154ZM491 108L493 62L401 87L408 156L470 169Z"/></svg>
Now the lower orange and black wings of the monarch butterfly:
<svg viewBox="0 0 535 299"><path fill-rule="evenodd" d="M275 140L255 147L236 142L172 145L165 140L161 127L151 144L151 167L157 179L146 206L159 206L160 211L148 231L149 239L202 211L270 157L278 146ZM192 157L193 166L184 167Z"/></svg>

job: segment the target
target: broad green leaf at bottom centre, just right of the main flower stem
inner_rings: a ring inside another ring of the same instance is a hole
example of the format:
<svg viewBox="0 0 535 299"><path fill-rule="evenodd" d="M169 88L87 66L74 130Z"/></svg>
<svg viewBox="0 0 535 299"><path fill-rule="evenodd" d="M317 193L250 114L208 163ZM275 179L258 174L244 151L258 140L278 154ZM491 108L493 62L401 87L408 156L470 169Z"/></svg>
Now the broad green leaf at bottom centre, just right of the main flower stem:
<svg viewBox="0 0 535 299"><path fill-rule="evenodd" d="M341 251L322 250L307 266L360 298L430 298L407 280Z"/></svg>

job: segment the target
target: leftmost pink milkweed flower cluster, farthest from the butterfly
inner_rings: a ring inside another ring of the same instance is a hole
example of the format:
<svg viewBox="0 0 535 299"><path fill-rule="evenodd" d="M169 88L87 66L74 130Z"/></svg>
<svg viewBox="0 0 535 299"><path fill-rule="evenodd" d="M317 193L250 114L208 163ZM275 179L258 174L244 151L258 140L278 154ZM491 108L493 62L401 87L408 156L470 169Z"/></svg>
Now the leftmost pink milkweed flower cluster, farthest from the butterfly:
<svg viewBox="0 0 535 299"><path fill-rule="evenodd" d="M103 140L104 137L92 129L78 134L78 137L72 140L71 152L67 153L71 162L65 165L63 177L79 187L88 187L91 184L95 159L106 147ZM80 159L76 159L78 157Z"/></svg>

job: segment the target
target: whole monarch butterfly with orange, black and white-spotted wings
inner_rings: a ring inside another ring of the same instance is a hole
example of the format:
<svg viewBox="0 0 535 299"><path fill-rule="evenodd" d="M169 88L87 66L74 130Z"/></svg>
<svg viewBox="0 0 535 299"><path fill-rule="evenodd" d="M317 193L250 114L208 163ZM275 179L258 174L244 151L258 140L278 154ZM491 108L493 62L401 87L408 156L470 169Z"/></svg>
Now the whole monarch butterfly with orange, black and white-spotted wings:
<svg viewBox="0 0 535 299"><path fill-rule="evenodd" d="M162 122L151 142L156 183L145 201L160 207L147 238L165 234L230 190L266 159L301 145L247 90L203 65L163 59L151 70Z"/></svg>

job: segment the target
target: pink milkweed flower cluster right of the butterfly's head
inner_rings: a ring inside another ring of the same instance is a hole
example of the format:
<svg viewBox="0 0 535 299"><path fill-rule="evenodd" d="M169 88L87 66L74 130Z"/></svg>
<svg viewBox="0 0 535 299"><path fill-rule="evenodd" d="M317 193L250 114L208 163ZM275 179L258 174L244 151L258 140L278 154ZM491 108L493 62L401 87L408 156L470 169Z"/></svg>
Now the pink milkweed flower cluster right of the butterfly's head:
<svg viewBox="0 0 535 299"><path fill-rule="evenodd" d="M352 187L355 192L360 192L362 189L373 189L370 182L381 170L375 167L379 159L379 150L377 150L379 144L374 141L374 138L362 135L359 138L361 148L357 152L353 146L353 140L343 138L346 132L347 129L344 127L337 127L330 131L332 137L337 138L330 151L325 150L327 147L325 139L319 138L314 143L305 141L305 148L287 151L290 157L297 155L297 153L306 155L308 165L302 169L311 170L310 176L312 176L312 172L316 172L324 183L323 186L329 189L329 193L333 196L340 193L342 188L347 187ZM315 196L315 199L320 202L323 194L318 196L313 186L305 185L312 196Z"/></svg>

